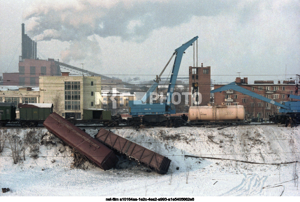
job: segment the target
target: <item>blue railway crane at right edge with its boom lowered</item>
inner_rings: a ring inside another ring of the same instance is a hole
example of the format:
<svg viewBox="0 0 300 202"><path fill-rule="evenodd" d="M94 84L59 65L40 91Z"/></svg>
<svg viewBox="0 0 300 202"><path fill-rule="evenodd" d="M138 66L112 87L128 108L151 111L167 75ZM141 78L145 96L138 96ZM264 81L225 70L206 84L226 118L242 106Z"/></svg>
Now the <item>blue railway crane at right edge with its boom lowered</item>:
<svg viewBox="0 0 300 202"><path fill-rule="evenodd" d="M259 95L255 92L252 92L248 89L245 89L241 87L242 85L235 84L235 82L229 83L225 86L222 86L220 88L214 89L211 91L211 93L215 92L221 92L225 90L235 90L237 92L244 93L245 95L252 96L254 98L257 98L259 100L268 102L270 104L274 104L277 106L277 112L281 114L277 114L273 117L273 121L276 123L282 123L285 121L288 117L293 117L297 120L297 122L300 122L300 101L282 101L282 102L276 102L272 99L266 98L262 95ZM300 99L299 95L288 95L289 98L293 99Z"/></svg>

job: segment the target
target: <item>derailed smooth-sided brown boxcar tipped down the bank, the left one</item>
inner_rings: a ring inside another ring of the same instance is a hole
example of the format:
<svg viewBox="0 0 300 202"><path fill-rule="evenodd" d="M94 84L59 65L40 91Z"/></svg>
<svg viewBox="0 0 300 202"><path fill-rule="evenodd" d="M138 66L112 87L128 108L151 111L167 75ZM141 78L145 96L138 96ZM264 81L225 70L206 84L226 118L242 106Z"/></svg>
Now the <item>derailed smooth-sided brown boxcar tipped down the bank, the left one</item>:
<svg viewBox="0 0 300 202"><path fill-rule="evenodd" d="M111 149L57 113L50 114L43 125L48 131L85 155L103 170L109 170L118 162L118 157Z"/></svg>

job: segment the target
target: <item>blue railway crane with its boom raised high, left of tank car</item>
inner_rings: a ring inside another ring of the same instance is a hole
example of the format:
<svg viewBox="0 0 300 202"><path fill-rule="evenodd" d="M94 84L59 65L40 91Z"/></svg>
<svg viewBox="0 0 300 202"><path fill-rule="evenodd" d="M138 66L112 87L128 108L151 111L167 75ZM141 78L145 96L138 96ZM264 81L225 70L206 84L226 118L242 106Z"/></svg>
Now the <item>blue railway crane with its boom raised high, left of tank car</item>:
<svg viewBox="0 0 300 202"><path fill-rule="evenodd" d="M156 87L159 84L159 80L161 75L163 74L164 70L167 68L167 65L162 70L161 74L158 76L156 80L154 80L154 83L149 88L149 90L146 92L144 97L141 100L135 100L135 101L129 101L129 114L132 116L132 118L128 119L129 124L138 124L141 122L141 119L139 115L145 115L143 117L144 122L156 122L156 123L162 123L166 122L167 118L164 116L164 114L175 114L176 109L174 104L171 101L172 94L174 92L175 83L178 76L178 71L180 68L180 63L182 60L182 56L184 51L193 45L193 42L198 39L198 36L192 38L190 41L186 42L185 44L182 44L181 47L177 48L175 52L173 53L170 60L167 62L167 65L170 63L173 56L176 55L173 68L172 68L172 74L170 77L170 83L167 91L167 97L166 101L164 103L147 103L147 99L152 94L152 92L156 89Z"/></svg>

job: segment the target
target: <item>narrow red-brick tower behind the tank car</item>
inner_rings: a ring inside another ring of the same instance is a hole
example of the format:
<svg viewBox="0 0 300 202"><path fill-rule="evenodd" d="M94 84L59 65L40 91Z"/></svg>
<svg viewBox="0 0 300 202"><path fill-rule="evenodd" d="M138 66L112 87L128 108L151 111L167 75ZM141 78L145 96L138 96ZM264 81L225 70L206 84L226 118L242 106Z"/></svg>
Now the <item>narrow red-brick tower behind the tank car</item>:
<svg viewBox="0 0 300 202"><path fill-rule="evenodd" d="M201 63L201 67L190 66L189 105L206 106L211 101L210 90L210 66L203 67L203 63Z"/></svg>

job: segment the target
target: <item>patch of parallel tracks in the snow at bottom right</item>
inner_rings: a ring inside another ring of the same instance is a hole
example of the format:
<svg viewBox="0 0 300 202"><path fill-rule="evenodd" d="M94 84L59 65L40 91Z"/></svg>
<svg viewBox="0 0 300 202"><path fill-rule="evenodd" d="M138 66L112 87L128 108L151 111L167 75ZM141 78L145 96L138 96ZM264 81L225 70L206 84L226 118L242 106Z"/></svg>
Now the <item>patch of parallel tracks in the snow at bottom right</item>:
<svg viewBox="0 0 300 202"><path fill-rule="evenodd" d="M241 184L232 188L220 196L257 196L262 192L262 187L265 186L267 176L259 177L258 175L246 175Z"/></svg>

